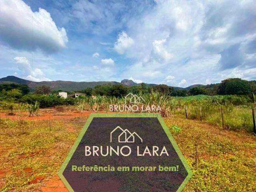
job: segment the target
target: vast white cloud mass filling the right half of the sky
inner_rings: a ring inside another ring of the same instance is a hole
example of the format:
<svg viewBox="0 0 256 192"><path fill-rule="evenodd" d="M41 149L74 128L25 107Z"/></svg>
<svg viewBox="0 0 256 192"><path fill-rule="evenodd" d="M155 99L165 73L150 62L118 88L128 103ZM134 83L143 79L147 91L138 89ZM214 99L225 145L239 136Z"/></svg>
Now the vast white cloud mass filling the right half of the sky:
<svg viewBox="0 0 256 192"><path fill-rule="evenodd" d="M203 84L220 82L227 76L226 70L236 68L241 72L254 68L256 9L251 6L253 0L155 2L153 9L127 22L126 32L136 46L125 50L126 56L135 62L129 66L132 70L124 73L133 75L134 72L144 82L158 83L170 83L172 80L166 76L171 73L176 79L186 77L187 84ZM138 63L142 63L140 68ZM148 75L146 81L145 74ZM184 86L186 82L184 79L171 83Z"/></svg>

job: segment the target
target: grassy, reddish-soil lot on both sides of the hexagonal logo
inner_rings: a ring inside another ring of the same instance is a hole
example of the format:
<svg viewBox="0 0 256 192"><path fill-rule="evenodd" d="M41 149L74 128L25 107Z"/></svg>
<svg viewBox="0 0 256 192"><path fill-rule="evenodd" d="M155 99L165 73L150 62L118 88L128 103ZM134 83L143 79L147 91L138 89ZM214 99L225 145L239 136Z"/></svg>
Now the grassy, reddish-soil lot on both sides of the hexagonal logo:
<svg viewBox="0 0 256 192"><path fill-rule="evenodd" d="M0 191L67 191L57 172L90 112L52 108L40 114L0 114ZM194 172L185 192L256 191L255 136L179 115L164 120Z"/></svg>

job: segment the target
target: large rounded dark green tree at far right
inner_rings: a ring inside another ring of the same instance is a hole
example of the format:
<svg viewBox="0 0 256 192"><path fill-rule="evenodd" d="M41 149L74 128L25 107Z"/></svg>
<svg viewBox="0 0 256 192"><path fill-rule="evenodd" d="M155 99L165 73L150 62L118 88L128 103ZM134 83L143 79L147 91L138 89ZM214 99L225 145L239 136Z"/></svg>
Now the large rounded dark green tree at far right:
<svg viewBox="0 0 256 192"><path fill-rule="evenodd" d="M240 78L230 78L223 80L218 86L220 95L250 95L252 87L250 82Z"/></svg>

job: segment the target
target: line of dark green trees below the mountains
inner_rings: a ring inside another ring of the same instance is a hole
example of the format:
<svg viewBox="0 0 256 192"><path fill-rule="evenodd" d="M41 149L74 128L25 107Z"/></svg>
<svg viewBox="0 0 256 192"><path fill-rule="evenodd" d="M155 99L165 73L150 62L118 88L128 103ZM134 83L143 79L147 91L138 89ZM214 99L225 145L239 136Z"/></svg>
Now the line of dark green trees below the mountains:
<svg viewBox="0 0 256 192"><path fill-rule="evenodd" d="M256 82L242 80L240 78L229 78L222 80L219 84L210 84L206 86L195 86L186 89L174 89L172 86L167 86L165 84L160 84L156 86L148 86L145 83L141 83L135 86L126 86L122 84L105 84L97 85L94 88L85 88L83 90L78 90L86 94L87 96L100 95L100 96L115 96L121 97L125 96L129 92L133 94L146 94L151 91L160 92L162 94L170 96L190 96L190 95L249 95L256 93ZM57 94L62 90L51 90L48 86L36 87L34 94L46 95L46 94ZM29 87L23 84L0 84L0 96L9 96L14 98L21 98L30 92ZM74 92L68 92L72 94Z"/></svg>

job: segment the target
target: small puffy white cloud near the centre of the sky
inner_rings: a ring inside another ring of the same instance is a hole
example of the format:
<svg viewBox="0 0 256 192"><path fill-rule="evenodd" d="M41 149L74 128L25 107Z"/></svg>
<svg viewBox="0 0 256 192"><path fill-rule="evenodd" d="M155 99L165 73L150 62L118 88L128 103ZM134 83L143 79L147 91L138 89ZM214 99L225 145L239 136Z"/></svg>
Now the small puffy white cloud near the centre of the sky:
<svg viewBox="0 0 256 192"><path fill-rule="evenodd" d="M114 49L119 54L124 52L134 44L134 40L130 38L125 31L118 34L117 41L115 42Z"/></svg>

